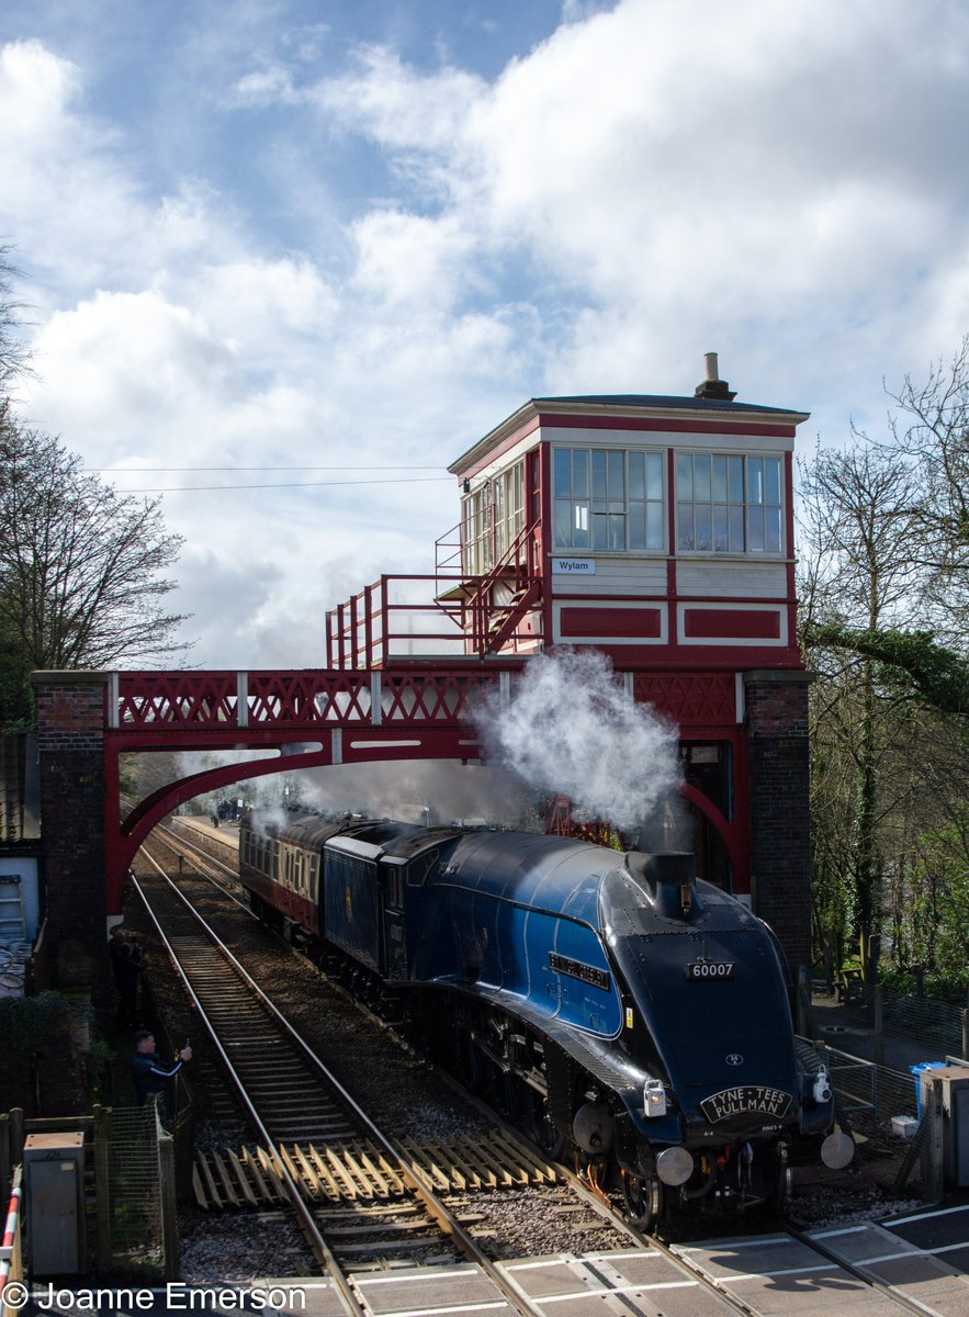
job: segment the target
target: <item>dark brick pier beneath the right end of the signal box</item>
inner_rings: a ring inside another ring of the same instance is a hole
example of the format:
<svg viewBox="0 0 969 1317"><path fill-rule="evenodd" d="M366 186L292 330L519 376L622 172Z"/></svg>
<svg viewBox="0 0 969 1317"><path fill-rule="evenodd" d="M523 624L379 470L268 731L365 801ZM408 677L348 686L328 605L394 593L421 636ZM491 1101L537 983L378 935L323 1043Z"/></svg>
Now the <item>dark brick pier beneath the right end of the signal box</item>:
<svg viewBox="0 0 969 1317"><path fill-rule="evenodd" d="M744 674L750 753L750 892L790 969L811 964L808 673Z"/></svg>

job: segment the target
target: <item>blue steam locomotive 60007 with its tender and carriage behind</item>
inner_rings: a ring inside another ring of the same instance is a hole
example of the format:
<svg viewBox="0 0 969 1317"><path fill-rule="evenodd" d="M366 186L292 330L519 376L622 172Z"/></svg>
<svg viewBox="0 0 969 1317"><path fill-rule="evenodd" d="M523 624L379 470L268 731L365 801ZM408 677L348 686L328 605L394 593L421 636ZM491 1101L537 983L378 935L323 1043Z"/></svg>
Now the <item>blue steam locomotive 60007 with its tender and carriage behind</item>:
<svg viewBox="0 0 969 1317"><path fill-rule="evenodd" d="M795 1144L853 1155L773 934L689 853L249 815L240 873L261 918L644 1229L687 1202L782 1205Z"/></svg>

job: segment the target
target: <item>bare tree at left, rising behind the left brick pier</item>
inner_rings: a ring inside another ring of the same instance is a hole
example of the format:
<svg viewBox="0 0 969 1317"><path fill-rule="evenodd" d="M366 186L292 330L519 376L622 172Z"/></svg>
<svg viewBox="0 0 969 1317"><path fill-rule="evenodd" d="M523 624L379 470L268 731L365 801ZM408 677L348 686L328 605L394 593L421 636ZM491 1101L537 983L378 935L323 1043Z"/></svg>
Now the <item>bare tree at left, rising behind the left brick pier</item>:
<svg viewBox="0 0 969 1317"><path fill-rule="evenodd" d="M32 716L33 669L108 668L183 655L162 601L182 537L161 499L138 500L0 402L0 719Z"/></svg>

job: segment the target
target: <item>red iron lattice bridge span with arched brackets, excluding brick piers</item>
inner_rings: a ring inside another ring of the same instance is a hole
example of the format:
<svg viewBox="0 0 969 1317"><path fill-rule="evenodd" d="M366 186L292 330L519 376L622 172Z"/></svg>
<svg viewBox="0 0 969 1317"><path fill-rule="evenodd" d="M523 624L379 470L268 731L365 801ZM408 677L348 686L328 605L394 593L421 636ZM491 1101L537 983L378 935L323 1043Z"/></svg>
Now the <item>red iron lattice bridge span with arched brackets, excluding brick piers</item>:
<svg viewBox="0 0 969 1317"><path fill-rule="evenodd" d="M507 703L523 668L524 660L448 666L427 660L370 672L103 674L109 910L118 906L128 867L154 824L195 795L269 773L338 764L481 761L486 749L475 727L475 709L492 699ZM723 738L724 726L736 726L736 684L728 674L719 681L711 681L708 673L627 672L616 677L635 701L673 718L681 736L704 738L716 730ZM540 728L536 736L541 736ZM242 756L170 782L125 815L121 756L159 751L251 751L265 757ZM723 838L735 872L743 873L743 824L728 820L696 789L685 785L682 790Z"/></svg>

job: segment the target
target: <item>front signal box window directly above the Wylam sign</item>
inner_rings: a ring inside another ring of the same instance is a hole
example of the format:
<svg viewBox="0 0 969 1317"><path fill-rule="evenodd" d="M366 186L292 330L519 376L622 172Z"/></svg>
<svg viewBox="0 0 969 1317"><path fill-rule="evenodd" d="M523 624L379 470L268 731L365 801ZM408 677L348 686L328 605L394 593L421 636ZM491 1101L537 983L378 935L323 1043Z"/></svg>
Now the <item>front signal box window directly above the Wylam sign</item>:
<svg viewBox="0 0 969 1317"><path fill-rule="evenodd" d="M557 549L662 551L664 460L640 449L557 448Z"/></svg>

